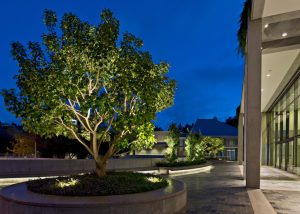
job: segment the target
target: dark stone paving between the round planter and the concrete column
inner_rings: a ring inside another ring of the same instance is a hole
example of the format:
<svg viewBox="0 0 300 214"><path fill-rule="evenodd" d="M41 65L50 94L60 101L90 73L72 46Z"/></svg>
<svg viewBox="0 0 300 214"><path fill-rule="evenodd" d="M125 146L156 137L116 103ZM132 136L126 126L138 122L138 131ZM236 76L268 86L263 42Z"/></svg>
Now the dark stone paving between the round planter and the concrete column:
<svg viewBox="0 0 300 214"><path fill-rule="evenodd" d="M210 172L176 176L187 185L186 213L250 214L253 209L237 163L216 162Z"/></svg>

